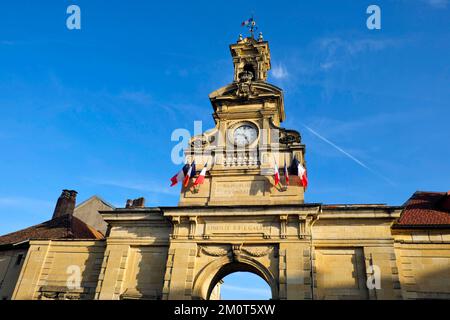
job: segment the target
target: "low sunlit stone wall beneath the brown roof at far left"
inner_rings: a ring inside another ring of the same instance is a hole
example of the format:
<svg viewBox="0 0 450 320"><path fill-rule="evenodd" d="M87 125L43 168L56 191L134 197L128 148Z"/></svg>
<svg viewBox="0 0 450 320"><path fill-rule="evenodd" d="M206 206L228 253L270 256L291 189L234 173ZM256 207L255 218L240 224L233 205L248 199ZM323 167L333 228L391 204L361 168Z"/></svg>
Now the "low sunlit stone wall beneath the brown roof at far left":
<svg viewBox="0 0 450 320"><path fill-rule="evenodd" d="M31 241L14 299L93 299L104 241Z"/></svg>

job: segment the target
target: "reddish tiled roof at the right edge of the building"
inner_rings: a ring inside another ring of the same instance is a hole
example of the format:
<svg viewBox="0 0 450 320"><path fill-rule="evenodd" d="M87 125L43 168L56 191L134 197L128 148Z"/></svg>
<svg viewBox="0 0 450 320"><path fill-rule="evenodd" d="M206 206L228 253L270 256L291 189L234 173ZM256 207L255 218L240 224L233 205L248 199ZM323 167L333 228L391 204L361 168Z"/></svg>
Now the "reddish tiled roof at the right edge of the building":
<svg viewBox="0 0 450 320"><path fill-rule="evenodd" d="M450 192L417 191L395 227L450 227Z"/></svg>

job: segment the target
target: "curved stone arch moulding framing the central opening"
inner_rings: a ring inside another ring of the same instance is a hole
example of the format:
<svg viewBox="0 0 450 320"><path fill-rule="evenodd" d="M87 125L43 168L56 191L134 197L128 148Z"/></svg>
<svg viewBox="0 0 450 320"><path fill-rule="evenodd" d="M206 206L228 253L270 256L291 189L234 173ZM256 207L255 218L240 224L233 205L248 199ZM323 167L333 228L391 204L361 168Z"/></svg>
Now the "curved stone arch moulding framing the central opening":
<svg viewBox="0 0 450 320"><path fill-rule="evenodd" d="M246 271L260 276L269 285L272 299L279 299L278 277L270 271L269 265L264 265L257 258L240 254L217 257L202 268L195 277L192 299L208 300L214 286L227 275Z"/></svg>

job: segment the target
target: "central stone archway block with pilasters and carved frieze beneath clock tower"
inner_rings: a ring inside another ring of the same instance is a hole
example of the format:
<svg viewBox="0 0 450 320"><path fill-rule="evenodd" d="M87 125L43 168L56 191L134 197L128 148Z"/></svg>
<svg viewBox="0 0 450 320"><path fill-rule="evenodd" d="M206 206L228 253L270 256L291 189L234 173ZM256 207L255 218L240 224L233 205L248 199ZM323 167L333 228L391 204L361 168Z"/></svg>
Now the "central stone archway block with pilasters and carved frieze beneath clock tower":
<svg viewBox="0 0 450 320"><path fill-rule="evenodd" d="M206 300L215 282L238 271L260 276L270 287L272 299L312 298L306 217L288 219L250 211L248 216L242 211L237 216L220 212L199 216L198 210L189 219L172 218L162 299Z"/></svg>

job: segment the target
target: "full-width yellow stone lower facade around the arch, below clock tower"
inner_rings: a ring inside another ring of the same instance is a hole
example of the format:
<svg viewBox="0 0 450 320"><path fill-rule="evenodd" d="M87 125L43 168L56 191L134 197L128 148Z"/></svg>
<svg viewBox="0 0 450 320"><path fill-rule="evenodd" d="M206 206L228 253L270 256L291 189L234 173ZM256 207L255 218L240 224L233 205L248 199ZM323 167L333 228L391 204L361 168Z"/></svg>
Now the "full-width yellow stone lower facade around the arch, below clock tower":
<svg viewBox="0 0 450 320"><path fill-rule="evenodd" d="M223 277L248 271L274 299L450 299L448 232L391 229L397 208L319 209L105 212L106 241L31 241L13 298L217 298ZM1 274L20 252L2 253Z"/></svg>

